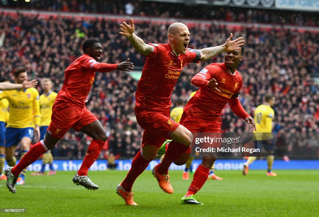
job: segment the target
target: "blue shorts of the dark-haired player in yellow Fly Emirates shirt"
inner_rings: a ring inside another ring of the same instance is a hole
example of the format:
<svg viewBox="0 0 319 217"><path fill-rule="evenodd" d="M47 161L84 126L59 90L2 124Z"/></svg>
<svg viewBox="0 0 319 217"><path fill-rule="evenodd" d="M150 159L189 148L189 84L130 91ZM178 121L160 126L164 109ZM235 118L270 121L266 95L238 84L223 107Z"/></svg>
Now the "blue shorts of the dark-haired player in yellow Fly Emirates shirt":
<svg viewBox="0 0 319 217"><path fill-rule="evenodd" d="M5 129L5 147L17 146L23 137L33 139L34 128L13 128L7 127Z"/></svg>

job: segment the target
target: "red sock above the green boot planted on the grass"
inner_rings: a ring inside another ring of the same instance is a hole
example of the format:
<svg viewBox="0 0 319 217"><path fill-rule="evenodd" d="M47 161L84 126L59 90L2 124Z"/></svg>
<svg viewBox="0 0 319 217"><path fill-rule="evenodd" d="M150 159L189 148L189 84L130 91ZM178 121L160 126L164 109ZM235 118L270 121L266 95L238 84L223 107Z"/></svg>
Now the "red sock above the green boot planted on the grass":
<svg viewBox="0 0 319 217"><path fill-rule="evenodd" d="M186 195L196 194L205 184L209 173L210 169L199 165L194 173L193 181L190 184Z"/></svg>

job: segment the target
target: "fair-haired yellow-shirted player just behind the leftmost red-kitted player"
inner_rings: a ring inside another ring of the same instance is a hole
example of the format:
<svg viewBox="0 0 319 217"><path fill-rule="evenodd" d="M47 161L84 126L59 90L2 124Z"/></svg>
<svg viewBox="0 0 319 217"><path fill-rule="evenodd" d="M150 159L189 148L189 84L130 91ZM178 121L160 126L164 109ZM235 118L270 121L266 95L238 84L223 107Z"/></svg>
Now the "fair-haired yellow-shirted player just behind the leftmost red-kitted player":
<svg viewBox="0 0 319 217"><path fill-rule="evenodd" d="M47 133L47 129L51 122L52 106L57 96L57 93L51 90L52 86L53 84L50 79L48 78L42 79L41 87L43 89L43 94L39 97L40 113L41 113L40 140L43 140L45 134ZM55 175L56 171L53 168L53 156L51 154L51 150L48 150L47 152L43 154L41 170L39 172L31 173L31 175L32 176L44 175L46 164L49 164L49 168L50 168L50 171L48 172L47 175Z"/></svg>

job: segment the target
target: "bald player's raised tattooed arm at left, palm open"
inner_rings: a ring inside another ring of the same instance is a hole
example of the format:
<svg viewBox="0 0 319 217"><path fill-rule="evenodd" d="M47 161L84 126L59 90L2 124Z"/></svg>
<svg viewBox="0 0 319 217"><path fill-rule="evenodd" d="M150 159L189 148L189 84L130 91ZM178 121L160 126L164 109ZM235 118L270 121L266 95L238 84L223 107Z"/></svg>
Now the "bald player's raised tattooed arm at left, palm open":
<svg viewBox="0 0 319 217"><path fill-rule="evenodd" d="M130 25L123 22L123 24L120 24L120 30L122 32L119 32L121 35L126 36L133 47L141 54L144 56L147 56L150 54L153 50L153 47L151 45L145 44L145 42L137 37L137 35L134 34L134 24L133 24L133 19L130 18Z"/></svg>

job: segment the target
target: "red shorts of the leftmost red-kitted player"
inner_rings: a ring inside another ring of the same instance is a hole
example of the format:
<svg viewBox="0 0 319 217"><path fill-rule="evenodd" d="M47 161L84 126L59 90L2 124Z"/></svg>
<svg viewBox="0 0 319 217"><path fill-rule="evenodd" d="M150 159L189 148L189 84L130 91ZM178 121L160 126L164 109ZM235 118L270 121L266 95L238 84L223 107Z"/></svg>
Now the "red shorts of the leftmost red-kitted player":
<svg viewBox="0 0 319 217"><path fill-rule="evenodd" d="M79 131L82 127L98 119L87 108L57 103L53 105L51 123L48 132L55 138L61 139L71 128Z"/></svg>

